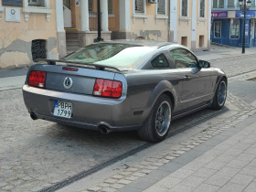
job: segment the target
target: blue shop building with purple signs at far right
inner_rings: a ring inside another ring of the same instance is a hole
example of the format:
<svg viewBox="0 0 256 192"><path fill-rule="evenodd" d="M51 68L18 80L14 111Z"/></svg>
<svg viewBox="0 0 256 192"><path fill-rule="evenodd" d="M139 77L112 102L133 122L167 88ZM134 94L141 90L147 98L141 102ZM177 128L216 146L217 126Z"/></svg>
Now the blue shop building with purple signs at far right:
<svg viewBox="0 0 256 192"><path fill-rule="evenodd" d="M256 1L251 0L245 20L245 47L256 46ZM211 41L232 47L242 46L243 12L239 0L213 0Z"/></svg>

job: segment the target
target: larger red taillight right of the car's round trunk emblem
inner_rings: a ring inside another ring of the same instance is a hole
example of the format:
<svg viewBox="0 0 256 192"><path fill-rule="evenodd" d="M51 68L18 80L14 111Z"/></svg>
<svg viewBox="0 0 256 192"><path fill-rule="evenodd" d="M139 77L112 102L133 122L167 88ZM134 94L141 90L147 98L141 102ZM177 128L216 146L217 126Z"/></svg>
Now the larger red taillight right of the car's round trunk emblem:
<svg viewBox="0 0 256 192"><path fill-rule="evenodd" d="M96 79L92 94L100 97L120 98L122 90L121 81Z"/></svg>

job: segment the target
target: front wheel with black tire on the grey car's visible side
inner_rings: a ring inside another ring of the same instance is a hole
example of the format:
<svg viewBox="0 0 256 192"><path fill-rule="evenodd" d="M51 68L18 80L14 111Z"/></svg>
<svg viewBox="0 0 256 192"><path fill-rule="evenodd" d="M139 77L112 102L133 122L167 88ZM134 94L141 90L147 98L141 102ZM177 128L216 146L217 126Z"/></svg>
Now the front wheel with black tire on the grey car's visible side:
<svg viewBox="0 0 256 192"><path fill-rule="evenodd" d="M215 91L215 95L211 104L211 109L220 110L227 98L227 80L222 79L219 81L219 85Z"/></svg>

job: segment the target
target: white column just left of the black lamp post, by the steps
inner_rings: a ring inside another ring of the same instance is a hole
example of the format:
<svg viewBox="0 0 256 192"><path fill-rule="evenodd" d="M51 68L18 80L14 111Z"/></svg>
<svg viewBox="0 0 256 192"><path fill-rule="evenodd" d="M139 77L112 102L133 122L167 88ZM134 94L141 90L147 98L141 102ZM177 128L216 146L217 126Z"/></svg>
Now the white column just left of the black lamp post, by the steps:
<svg viewBox="0 0 256 192"><path fill-rule="evenodd" d="M89 7L88 0L80 1L80 30L89 31Z"/></svg>

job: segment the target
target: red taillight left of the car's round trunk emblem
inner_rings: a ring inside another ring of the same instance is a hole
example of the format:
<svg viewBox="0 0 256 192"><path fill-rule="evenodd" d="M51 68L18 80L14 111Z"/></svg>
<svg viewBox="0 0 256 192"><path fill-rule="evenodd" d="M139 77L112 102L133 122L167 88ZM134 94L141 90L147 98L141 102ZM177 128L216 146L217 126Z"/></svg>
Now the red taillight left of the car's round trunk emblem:
<svg viewBox="0 0 256 192"><path fill-rule="evenodd" d="M31 71L28 77L28 85L45 88L46 72L42 71Z"/></svg>

